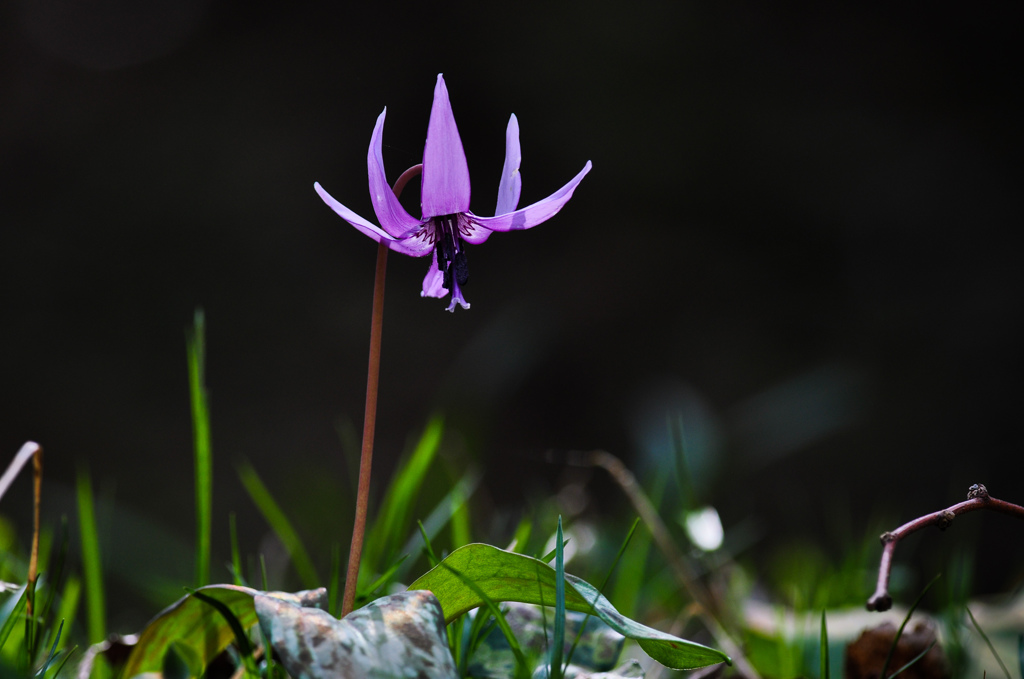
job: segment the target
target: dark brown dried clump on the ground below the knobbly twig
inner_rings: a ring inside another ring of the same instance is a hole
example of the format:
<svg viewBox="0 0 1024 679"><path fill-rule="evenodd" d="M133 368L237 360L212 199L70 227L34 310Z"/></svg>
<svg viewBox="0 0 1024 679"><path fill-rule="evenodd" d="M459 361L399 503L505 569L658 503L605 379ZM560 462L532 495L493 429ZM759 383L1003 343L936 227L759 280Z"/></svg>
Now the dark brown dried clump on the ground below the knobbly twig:
<svg viewBox="0 0 1024 679"><path fill-rule="evenodd" d="M881 679L882 667L895 637L896 626L892 623L883 623L861 632L857 640L846 647L846 678ZM949 663L942 652L942 646L936 641L935 628L924 621L905 628L896 644L886 675L894 674L935 643L924 657L899 676L905 679L949 679Z"/></svg>

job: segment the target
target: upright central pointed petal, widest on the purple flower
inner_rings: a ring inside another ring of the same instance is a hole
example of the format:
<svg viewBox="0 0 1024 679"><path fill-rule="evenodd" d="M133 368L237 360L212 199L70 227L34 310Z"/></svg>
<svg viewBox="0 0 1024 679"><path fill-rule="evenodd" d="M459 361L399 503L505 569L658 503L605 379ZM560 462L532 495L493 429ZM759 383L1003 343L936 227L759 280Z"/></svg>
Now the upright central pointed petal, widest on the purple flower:
<svg viewBox="0 0 1024 679"><path fill-rule="evenodd" d="M423 179L420 204L423 219L469 210L469 166L455 125L444 78L437 75L434 103L423 146Z"/></svg>

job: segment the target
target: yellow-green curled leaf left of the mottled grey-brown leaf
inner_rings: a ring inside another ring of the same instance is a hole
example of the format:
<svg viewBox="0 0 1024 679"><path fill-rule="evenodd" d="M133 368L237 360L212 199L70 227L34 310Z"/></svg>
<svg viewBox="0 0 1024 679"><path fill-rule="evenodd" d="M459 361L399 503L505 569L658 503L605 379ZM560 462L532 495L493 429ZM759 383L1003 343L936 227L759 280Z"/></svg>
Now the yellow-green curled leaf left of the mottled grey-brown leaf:
<svg viewBox="0 0 1024 679"><path fill-rule="evenodd" d="M198 591L226 605L243 629L248 631L256 624L253 597L264 593L238 585L209 585ZM326 605L327 602L327 590L323 587L298 594L271 592L264 596L306 606ZM131 647L121 676L160 672L172 643L179 654L190 653L198 666L205 668L233 640L234 634L224 618L213 606L189 594L162 610L145 626Z"/></svg>

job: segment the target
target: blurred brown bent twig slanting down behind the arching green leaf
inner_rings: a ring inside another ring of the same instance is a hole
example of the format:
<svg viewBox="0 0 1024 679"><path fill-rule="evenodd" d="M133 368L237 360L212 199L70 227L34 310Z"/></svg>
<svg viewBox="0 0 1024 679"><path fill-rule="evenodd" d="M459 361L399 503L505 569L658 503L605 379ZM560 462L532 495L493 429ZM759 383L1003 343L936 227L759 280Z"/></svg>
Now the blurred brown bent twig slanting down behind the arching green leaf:
<svg viewBox="0 0 1024 679"><path fill-rule="evenodd" d="M626 497L633 503L634 509L640 514L641 520L650 529L658 549L662 550L662 553L669 560L676 580L697 604L697 614L700 617L700 621L711 632L712 636L715 637L715 641L725 649L726 654L732 657L736 670L745 679L759 679L761 675L746 661L739 644L733 641L732 637L726 631L725 626L722 625L713 597L705 589L693 568L690 567L689 561L679 551L679 548L676 547L669 528L666 527L665 522L657 513L657 509L647 498L643 489L640 487L640 483L637 482L633 472L623 464L622 460L605 451L594 451L586 455L585 459L587 463L606 470L611 475L611 478L623 489Z"/></svg>

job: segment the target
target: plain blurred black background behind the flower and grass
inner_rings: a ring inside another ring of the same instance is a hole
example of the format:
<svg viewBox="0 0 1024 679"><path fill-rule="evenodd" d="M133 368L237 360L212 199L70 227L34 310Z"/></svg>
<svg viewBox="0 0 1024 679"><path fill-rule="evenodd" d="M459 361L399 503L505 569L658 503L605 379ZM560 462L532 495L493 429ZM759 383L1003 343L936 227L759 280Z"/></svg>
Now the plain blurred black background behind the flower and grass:
<svg viewBox="0 0 1024 679"><path fill-rule="evenodd" d="M379 481L443 412L514 511L557 491L559 452L669 468L678 417L697 500L727 534L755 521L754 550L842 550L979 481L1020 502L1019 34L1013 3L4 3L0 452L44 447L51 518L88 467L115 570L144 535L151 561L181 545L146 568L189 572L202 306L220 558L228 512L248 551L265 532L243 458L347 541L376 246L312 183L373 218L374 121L393 179L443 73L474 211L513 112L520 205L594 169L550 222L471 248L470 311L391 256ZM23 536L29 504L20 479ZM1020 582L1019 536L974 514L915 544L978 550L984 593Z"/></svg>

